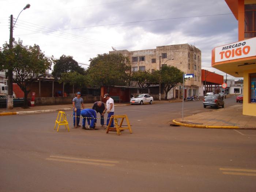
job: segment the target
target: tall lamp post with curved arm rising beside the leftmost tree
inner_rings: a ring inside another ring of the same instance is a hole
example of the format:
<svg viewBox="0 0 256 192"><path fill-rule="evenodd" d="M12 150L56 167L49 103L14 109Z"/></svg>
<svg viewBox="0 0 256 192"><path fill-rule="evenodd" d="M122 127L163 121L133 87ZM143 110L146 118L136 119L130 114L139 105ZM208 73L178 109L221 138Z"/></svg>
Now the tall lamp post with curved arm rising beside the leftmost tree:
<svg viewBox="0 0 256 192"><path fill-rule="evenodd" d="M30 8L30 4L26 4L26 6L23 8L23 10ZM21 10L19 15L21 14L21 12L23 11ZM19 17L18 15L18 17ZM15 23L18 20L18 17L15 21ZM13 24L13 15L11 15L10 17L10 39L9 39L9 48L10 50L12 50L12 43L13 43L13 28L15 26L15 23ZM13 87L12 87L12 64L10 63L10 67L8 69L8 95L7 95L7 106L8 109L13 109Z"/></svg>

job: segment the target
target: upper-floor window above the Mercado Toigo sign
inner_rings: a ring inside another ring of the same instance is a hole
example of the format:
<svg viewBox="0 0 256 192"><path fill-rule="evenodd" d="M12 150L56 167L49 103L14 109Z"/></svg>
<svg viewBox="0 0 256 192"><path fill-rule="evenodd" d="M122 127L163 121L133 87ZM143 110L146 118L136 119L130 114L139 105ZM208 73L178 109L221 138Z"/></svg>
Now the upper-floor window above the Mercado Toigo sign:
<svg viewBox="0 0 256 192"><path fill-rule="evenodd" d="M244 5L244 37L256 37L256 4Z"/></svg>

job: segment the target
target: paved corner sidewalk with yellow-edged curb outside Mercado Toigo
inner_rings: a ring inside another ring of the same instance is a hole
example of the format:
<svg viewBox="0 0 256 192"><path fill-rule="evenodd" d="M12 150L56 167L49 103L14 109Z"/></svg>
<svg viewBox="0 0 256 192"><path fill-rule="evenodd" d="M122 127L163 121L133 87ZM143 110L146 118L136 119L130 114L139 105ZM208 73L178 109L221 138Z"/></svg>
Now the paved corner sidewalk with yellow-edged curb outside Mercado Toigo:
<svg viewBox="0 0 256 192"><path fill-rule="evenodd" d="M242 104L173 120L176 125L196 128L256 129L256 117L242 114Z"/></svg>

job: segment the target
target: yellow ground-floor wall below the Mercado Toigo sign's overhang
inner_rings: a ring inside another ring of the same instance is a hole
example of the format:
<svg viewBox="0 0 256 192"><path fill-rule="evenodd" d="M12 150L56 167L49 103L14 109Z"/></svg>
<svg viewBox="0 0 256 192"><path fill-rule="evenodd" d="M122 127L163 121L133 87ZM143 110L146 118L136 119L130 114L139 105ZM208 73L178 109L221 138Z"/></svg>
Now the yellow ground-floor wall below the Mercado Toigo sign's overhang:
<svg viewBox="0 0 256 192"><path fill-rule="evenodd" d="M250 86L251 86L251 83L249 82L250 81L249 74L251 74L251 73L256 73L256 69L244 72L243 114L256 116L256 103L249 103L249 96L250 96L249 91L250 91Z"/></svg>

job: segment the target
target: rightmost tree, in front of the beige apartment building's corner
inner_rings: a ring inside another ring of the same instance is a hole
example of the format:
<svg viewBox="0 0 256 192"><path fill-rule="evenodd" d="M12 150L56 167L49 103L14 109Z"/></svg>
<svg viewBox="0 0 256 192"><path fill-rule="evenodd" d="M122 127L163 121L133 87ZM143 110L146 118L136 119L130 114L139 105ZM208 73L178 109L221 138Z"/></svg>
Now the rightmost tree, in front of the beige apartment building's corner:
<svg viewBox="0 0 256 192"><path fill-rule="evenodd" d="M162 66L161 67L161 83L165 90L165 99L167 100L168 92L181 83L183 80L183 72L177 67Z"/></svg>

